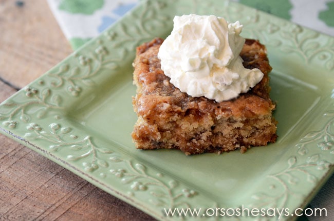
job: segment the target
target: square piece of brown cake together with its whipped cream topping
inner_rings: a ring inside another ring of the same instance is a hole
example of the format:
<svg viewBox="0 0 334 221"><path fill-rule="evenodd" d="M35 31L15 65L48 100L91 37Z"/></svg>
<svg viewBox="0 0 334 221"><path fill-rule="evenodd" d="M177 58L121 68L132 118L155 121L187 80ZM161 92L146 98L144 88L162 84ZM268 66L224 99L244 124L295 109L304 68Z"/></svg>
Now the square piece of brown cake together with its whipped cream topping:
<svg viewBox="0 0 334 221"><path fill-rule="evenodd" d="M166 39L137 48L137 148L190 155L275 142L265 46L223 17L189 14L173 22Z"/></svg>

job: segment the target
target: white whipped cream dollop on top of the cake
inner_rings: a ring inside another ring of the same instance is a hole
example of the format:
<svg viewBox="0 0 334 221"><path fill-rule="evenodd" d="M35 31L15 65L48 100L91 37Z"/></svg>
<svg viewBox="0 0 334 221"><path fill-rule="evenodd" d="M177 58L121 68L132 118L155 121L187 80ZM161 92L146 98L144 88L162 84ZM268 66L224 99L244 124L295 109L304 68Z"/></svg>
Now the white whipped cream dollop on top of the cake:
<svg viewBox="0 0 334 221"><path fill-rule="evenodd" d="M180 91L227 101L261 81L259 69L246 69L239 56L243 26L214 15L175 16L172 33L162 43L161 69Z"/></svg>

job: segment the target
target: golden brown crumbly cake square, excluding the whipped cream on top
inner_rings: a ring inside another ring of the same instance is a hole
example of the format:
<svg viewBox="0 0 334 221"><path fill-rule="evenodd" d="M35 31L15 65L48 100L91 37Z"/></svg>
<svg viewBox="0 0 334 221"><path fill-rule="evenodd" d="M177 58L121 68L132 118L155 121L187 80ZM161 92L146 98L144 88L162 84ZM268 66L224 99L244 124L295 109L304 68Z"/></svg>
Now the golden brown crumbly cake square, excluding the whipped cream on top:
<svg viewBox="0 0 334 221"><path fill-rule="evenodd" d="M247 39L240 56L246 68L258 68L264 77L254 88L230 101L217 103L181 92L164 75L157 58L163 39L155 38L137 48L134 61L133 98L138 115L132 133L139 149L176 148L185 154L245 151L276 140L275 105L269 97L266 48Z"/></svg>

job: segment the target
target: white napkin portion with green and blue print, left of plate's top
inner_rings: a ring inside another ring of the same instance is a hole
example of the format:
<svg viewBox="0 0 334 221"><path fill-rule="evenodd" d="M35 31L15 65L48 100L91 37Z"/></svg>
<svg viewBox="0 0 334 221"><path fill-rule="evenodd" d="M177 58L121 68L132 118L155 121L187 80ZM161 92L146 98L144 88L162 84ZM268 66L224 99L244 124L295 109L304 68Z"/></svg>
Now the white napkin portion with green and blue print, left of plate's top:
<svg viewBox="0 0 334 221"><path fill-rule="evenodd" d="M65 37L73 49L117 21L139 0L48 0Z"/></svg>

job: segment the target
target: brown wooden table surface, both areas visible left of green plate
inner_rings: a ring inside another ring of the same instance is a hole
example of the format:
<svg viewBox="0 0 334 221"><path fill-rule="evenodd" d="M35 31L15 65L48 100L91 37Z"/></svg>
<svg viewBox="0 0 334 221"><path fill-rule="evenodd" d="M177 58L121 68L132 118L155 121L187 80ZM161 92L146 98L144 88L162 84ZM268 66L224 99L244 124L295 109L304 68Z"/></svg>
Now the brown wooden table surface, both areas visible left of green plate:
<svg viewBox="0 0 334 221"><path fill-rule="evenodd" d="M0 103L72 52L45 0L0 0ZM0 134L0 220L152 220Z"/></svg>

